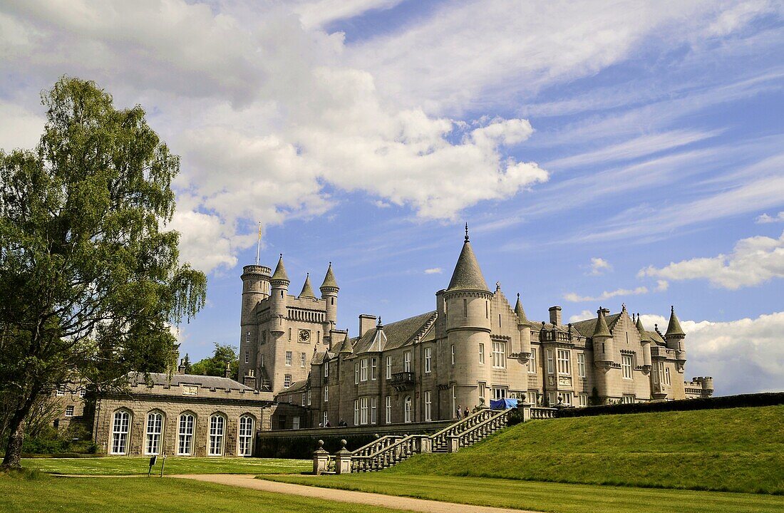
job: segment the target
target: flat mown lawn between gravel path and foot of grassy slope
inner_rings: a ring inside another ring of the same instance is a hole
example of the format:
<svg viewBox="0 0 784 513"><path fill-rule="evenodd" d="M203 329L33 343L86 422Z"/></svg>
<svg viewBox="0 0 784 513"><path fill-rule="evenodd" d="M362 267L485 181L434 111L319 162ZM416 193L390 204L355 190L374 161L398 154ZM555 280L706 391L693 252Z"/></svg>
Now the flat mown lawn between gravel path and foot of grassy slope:
<svg viewBox="0 0 784 513"><path fill-rule="evenodd" d="M784 497L753 493L657 490L615 486L528 482L509 479L392 475L388 472L320 476L263 476L342 490L386 493L499 508L559 513L779 513Z"/></svg>

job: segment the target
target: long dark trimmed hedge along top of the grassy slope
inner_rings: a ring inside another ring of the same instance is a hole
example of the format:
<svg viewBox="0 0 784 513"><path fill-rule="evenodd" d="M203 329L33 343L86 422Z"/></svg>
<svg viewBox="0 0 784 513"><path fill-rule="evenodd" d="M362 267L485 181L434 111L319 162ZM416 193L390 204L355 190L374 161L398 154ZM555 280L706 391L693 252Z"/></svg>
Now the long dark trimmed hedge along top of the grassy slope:
<svg viewBox="0 0 784 513"><path fill-rule="evenodd" d="M556 417L592 417L593 415L644 414L653 411L713 410L718 408L742 408L754 406L776 406L784 404L784 392L742 394L739 396L706 397L681 401L655 403L606 404L586 408L562 408Z"/></svg>

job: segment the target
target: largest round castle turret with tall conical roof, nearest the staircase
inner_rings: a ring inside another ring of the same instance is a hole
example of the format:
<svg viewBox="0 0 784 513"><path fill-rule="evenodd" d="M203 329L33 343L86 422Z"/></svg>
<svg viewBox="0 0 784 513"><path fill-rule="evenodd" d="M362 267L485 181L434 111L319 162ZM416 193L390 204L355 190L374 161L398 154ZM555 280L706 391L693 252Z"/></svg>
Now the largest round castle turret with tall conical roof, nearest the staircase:
<svg viewBox="0 0 784 513"><path fill-rule="evenodd" d="M489 353L490 300L485 277L471 248L466 225L466 239L457 259L452 280L444 292L446 306L446 334L441 342L439 361L447 362L446 383L452 383L452 412L456 405L477 404L477 381L488 381L490 366L477 366L477 354ZM506 353L510 353L508 348ZM441 378L441 376L439 376Z"/></svg>

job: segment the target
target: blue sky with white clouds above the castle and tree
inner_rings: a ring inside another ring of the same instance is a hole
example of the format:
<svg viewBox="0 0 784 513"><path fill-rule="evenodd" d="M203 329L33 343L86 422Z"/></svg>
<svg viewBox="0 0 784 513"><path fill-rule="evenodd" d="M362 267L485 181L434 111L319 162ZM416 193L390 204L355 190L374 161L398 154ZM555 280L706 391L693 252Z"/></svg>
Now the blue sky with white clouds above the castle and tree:
<svg viewBox="0 0 784 513"><path fill-rule="evenodd" d="M433 309L468 222L528 316L674 304L687 378L782 390L782 55L764 0L5 2L0 147L62 74L147 109L209 273L192 360L238 341L257 222L292 293L333 262L352 333Z"/></svg>

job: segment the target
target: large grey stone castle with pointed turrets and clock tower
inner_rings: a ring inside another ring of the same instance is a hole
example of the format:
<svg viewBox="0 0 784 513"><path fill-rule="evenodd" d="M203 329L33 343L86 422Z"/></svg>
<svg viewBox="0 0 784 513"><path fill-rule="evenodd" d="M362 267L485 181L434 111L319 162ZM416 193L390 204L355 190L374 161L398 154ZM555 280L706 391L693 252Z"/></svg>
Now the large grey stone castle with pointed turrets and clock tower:
<svg viewBox="0 0 784 513"><path fill-rule="evenodd" d="M488 288L467 229L434 311L386 325L361 315L356 337L335 327L332 263L321 298L310 276L299 295L289 294L282 255L271 276L263 266L243 271L240 376L292 406L290 422L278 418L274 428L447 420L522 394L588 406L713 393L712 378L684 382L685 334L674 309L663 334L626 305L567 324L553 306L549 320L529 320L519 294L513 307L499 284Z"/></svg>

